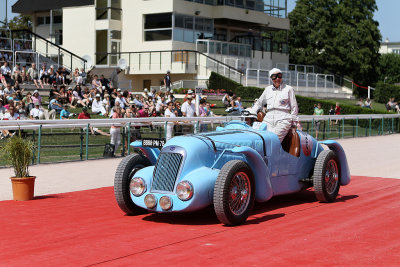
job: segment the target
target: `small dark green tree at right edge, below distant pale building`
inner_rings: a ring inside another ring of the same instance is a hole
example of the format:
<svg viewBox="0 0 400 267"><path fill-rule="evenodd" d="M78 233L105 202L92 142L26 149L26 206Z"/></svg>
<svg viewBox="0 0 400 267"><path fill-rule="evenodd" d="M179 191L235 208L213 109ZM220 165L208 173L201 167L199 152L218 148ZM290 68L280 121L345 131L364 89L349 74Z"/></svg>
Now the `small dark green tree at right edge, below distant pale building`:
<svg viewBox="0 0 400 267"><path fill-rule="evenodd" d="M383 54L379 59L379 81L400 83L400 55Z"/></svg>

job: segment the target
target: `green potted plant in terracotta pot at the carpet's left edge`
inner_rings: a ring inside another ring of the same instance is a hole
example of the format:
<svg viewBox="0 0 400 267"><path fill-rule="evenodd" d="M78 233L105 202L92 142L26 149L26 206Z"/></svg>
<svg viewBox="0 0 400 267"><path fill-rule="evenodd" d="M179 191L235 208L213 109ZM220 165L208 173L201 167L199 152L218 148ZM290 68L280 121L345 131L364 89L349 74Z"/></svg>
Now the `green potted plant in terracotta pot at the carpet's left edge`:
<svg viewBox="0 0 400 267"><path fill-rule="evenodd" d="M19 133L7 139L1 150L7 164L14 168L15 176L10 177L14 200L33 199L36 177L29 175L33 142Z"/></svg>

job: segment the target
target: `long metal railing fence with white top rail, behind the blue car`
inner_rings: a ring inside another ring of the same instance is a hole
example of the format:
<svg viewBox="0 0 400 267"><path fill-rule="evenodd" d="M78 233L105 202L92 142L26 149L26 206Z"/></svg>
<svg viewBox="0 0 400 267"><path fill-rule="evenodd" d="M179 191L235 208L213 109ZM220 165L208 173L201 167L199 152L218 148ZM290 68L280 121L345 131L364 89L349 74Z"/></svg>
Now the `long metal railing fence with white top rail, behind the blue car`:
<svg viewBox="0 0 400 267"><path fill-rule="evenodd" d="M129 143L145 137L166 137L167 124L177 122L175 135L213 131L230 120L244 117L185 118L132 118L92 120L19 120L0 121L0 130L21 132L34 144L32 164L89 160L103 158L105 145L110 143L109 129L121 126L121 151L117 155L132 153ZM303 131L313 136L318 131L322 139L356 138L387 135L400 132L400 114L362 114L333 116L300 116ZM95 128L94 133L91 127ZM12 134L12 133L11 133ZM0 140L0 146L7 140ZM0 159L0 166L5 166Z"/></svg>

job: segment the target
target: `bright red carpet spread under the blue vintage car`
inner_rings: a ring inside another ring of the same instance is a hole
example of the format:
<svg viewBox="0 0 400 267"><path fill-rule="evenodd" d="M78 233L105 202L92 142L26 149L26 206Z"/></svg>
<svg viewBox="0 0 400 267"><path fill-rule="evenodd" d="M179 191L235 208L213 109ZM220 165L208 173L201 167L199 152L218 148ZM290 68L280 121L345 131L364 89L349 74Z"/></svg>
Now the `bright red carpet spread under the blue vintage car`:
<svg viewBox="0 0 400 267"><path fill-rule="evenodd" d="M399 266L400 180L353 177L340 194L276 197L239 227L211 208L124 216L111 187L2 201L0 265Z"/></svg>

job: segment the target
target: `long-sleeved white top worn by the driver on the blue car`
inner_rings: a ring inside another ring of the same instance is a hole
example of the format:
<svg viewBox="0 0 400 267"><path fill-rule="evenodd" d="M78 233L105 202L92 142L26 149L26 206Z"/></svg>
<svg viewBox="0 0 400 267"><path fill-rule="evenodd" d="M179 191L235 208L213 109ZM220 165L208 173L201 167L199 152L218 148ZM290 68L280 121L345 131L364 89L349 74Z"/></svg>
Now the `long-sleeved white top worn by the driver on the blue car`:
<svg viewBox="0 0 400 267"><path fill-rule="evenodd" d="M249 111L256 114L265 104L267 104L268 112L264 117L264 121L299 121L299 108L297 107L296 96L291 86L286 84L281 84L279 88L275 88L273 85L267 86Z"/></svg>

